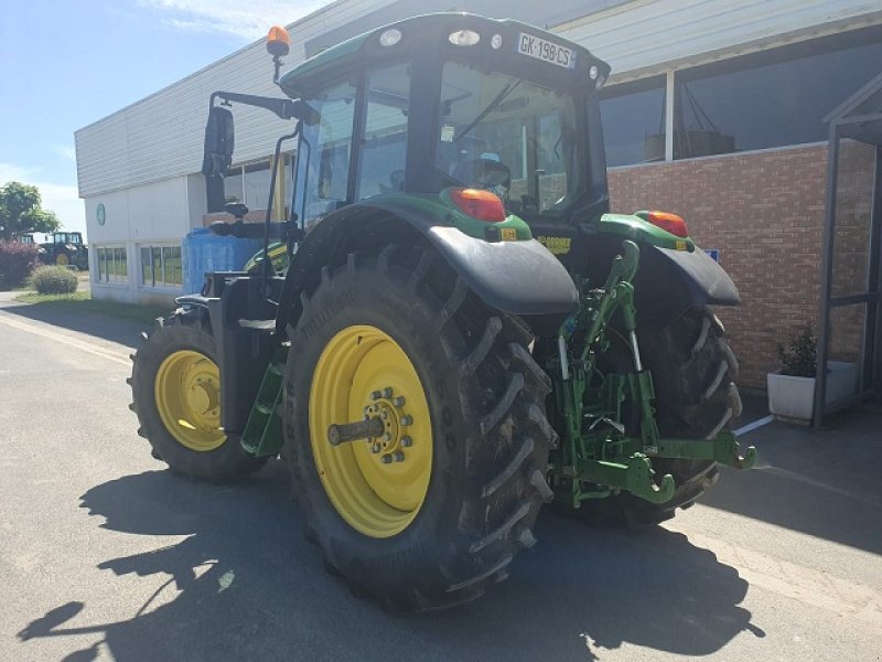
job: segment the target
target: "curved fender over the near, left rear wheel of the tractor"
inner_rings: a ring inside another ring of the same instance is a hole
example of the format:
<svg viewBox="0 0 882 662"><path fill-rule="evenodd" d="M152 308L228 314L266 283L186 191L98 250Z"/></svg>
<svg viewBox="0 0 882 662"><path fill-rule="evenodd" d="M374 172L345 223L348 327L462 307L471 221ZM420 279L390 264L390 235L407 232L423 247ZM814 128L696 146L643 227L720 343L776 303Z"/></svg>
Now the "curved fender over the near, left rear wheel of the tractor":
<svg viewBox="0 0 882 662"><path fill-rule="evenodd" d="M471 237L453 226L450 207L437 200L385 195L333 212L306 234L288 269L277 330L299 317L300 295L314 289L322 267L344 264L355 250L419 243L434 247L487 305L534 325L557 328L578 307L572 278L537 241Z"/></svg>

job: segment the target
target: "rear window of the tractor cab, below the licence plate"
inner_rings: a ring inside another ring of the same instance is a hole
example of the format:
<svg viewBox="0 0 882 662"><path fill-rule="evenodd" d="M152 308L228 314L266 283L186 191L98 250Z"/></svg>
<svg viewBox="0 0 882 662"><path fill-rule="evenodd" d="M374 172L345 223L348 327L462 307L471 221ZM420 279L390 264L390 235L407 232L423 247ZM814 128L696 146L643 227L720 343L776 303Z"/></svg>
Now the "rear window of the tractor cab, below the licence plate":
<svg viewBox="0 0 882 662"><path fill-rule="evenodd" d="M448 62L440 114L435 167L447 185L493 191L516 213L569 205L579 183L572 97Z"/></svg>

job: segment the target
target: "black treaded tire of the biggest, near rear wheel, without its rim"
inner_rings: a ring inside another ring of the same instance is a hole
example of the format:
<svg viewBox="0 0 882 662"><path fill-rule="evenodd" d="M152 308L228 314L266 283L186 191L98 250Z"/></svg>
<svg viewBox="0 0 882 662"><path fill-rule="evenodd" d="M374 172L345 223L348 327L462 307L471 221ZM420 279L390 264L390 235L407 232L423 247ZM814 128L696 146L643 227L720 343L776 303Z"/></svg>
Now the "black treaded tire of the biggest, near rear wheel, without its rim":
<svg viewBox="0 0 882 662"><path fill-rule="evenodd" d="M302 297L284 386L284 450L308 540L325 569L390 611L467 602L505 579L536 538L551 498L545 480L555 433L550 382L527 351L518 319L483 305L431 248L349 255ZM432 420L432 470L416 519L370 537L338 514L318 476L309 431L313 370L340 330L389 334L420 377Z"/></svg>

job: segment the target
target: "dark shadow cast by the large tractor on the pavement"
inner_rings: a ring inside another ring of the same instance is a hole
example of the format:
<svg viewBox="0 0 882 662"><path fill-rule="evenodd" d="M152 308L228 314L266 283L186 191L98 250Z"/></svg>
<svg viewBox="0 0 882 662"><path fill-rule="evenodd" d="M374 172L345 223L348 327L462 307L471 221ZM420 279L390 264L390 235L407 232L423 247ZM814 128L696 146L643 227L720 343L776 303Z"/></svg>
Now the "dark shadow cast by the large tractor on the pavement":
<svg viewBox="0 0 882 662"><path fill-rule="evenodd" d="M742 632L764 636L739 606L747 583L684 535L595 532L552 513L539 523L540 544L483 599L437 615L390 616L322 570L287 494L279 462L232 488L168 471L96 485L82 506L105 520L101 527L186 537L99 564L108 580L135 575L159 587L133 617L99 622L103 610L90 615L72 601L19 638L68 637L76 647L74 636L98 634L101 642L65 660L95 660L105 648L119 662L152 662L595 660L622 644L708 655ZM66 624L74 617L97 623Z"/></svg>

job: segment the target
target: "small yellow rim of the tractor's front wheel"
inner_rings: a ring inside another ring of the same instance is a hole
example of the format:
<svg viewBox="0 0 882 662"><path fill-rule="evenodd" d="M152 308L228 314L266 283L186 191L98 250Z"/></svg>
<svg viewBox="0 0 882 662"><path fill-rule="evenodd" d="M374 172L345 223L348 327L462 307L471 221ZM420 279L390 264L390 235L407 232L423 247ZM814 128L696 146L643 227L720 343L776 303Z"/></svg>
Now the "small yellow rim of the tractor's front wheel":
<svg viewBox="0 0 882 662"><path fill-rule="evenodd" d="M169 354L157 372L154 395L162 424L185 448L205 452L226 440L220 429L220 371L205 354Z"/></svg>

